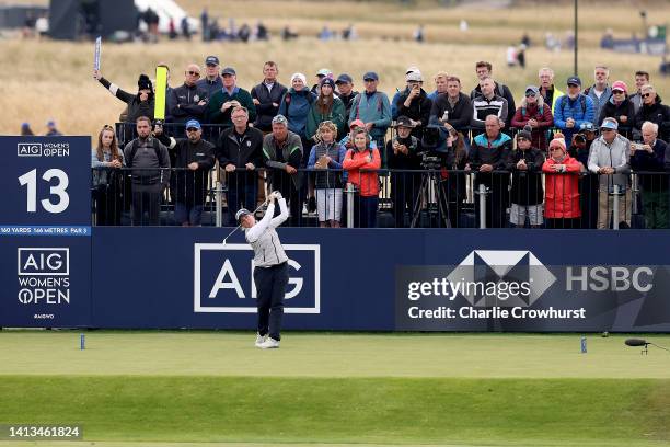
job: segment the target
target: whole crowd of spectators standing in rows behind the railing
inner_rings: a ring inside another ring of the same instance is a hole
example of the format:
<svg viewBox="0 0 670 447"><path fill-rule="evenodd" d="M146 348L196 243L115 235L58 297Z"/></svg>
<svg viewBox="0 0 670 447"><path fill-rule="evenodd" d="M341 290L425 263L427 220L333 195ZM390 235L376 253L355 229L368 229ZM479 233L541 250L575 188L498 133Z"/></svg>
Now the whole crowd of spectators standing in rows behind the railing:
<svg viewBox="0 0 670 447"><path fill-rule="evenodd" d="M217 56L205 58L203 67L188 64L183 84L165 92L165 124L152 128L155 92L149 77L140 74L130 93L94 71L126 104L120 121L130 124L112 141L109 128L101 130L93 165L132 168L135 225L157 224L165 188L177 222L199 225L206 173L218 161L230 225L240 207L256 208L267 185L288 199L291 226L303 225L312 210L321 226L342 226L343 191L354 191L355 226L376 227L380 194L390 188L386 208L396 227L420 225L417 213L436 200L440 222L460 227L470 192L475 215L485 209L481 220L488 228L626 228L635 172L646 173L639 175L646 227L668 228L670 108L645 71L635 73L633 91L597 66L593 84L582 89L578 76L562 84L545 67L518 101L487 61L475 64L470 94L461 79L446 72L428 89L418 67L407 68L406 83L392 99L379 90L383 79L377 71L359 78L360 92L353 73L320 69L312 88L300 72L282 85L279 73L276 62L265 62L263 79L247 91ZM178 126L170 130L168 124ZM208 128L217 133L204 134ZM176 138L183 129L187 138ZM120 144L125 149L116 154ZM163 172L170 167L176 170L172 176ZM426 182L431 170L439 173ZM103 190L107 197L96 200L96 208L123 207L108 197L119 186L101 184L99 176L96 197ZM480 207L481 200L486 206ZM103 211L97 222L118 224L108 215Z"/></svg>

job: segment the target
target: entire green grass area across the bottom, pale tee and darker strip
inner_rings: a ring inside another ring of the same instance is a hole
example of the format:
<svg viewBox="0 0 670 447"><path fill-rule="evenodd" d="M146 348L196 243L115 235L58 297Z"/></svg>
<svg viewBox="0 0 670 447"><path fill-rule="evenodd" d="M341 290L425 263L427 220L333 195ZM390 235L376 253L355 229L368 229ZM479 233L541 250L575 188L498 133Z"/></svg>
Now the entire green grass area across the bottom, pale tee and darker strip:
<svg viewBox="0 0 670 447"><path fill-rule="evenodd" d="M42 447L670 445L670 353L623 335L85 334L0 332L0 424L82 425Z"/></svg>

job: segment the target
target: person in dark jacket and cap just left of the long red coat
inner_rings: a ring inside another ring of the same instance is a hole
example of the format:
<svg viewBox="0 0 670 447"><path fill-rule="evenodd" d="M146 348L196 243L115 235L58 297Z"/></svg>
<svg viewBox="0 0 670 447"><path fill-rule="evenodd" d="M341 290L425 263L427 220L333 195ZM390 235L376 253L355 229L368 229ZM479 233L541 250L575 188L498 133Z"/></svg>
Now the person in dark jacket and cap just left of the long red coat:
<svg viewBox="0 0 670 447"><path fill-rule="evenodd" d="M507 169L512 173L511 210L509 222L517 228L525 226L525 217L531 228L543 224L542 164L544 153L532 146L532 135L523 129L517 133L517 150L511 152Z"/></svg>

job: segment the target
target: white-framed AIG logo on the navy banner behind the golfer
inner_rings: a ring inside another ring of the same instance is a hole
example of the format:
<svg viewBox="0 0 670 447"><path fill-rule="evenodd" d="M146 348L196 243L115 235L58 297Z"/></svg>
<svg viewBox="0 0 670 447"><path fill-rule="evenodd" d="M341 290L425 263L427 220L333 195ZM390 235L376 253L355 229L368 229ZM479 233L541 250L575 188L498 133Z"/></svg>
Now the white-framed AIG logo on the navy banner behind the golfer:
<svg viewBox="0 0 670 447"><path fill-rule="evenodd" d="M285 244L284 249L289 256L285 313L320 313L320 247ZM256 312L253 254L252 248L245 243L196 243L194 312Z"/></svg>

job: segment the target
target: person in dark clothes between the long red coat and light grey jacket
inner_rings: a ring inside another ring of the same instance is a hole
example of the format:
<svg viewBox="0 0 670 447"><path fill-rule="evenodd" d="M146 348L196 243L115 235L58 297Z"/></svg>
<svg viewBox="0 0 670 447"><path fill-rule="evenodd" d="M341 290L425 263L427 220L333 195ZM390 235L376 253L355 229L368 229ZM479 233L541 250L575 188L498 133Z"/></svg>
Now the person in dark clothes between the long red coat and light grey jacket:
<svg viewBox="0 0 670 447"><path fill-rule="evenodd" d="M593 123L581 123L579 133L573 135L573 141L568 148L569 156L579 162L584 174L579 179L580 228L594 229L598 222L598 175L587 170L591 144L597 137L598 129Z"/></svg>

